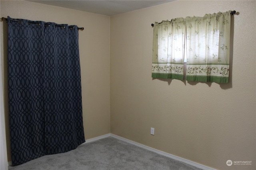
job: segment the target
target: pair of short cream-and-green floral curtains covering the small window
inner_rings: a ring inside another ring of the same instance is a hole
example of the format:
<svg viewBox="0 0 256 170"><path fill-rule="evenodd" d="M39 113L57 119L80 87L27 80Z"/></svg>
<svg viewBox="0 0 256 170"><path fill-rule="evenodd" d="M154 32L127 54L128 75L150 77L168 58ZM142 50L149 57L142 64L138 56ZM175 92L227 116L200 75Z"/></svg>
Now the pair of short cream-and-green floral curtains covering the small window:
<svg viewBox="0 0 256 170"><path fill-rule="evenodd" d="M153 78L227 83L230 57L230 11L204 17L155 23Z"/></svg>

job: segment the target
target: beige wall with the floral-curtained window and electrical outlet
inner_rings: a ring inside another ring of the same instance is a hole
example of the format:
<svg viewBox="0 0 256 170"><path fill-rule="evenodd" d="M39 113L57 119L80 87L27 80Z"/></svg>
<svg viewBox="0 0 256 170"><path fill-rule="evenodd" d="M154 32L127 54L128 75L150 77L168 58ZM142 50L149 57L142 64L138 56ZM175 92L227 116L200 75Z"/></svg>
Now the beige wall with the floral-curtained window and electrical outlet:
<svg viewBox="0 0 256 170"><path fill-rule="evenodd" d="M151 23L228 10L239 12L228 84L152 80ZM181 0L112 16L111 133L216 169L256 169L255 10L256 1Z"/></svg>

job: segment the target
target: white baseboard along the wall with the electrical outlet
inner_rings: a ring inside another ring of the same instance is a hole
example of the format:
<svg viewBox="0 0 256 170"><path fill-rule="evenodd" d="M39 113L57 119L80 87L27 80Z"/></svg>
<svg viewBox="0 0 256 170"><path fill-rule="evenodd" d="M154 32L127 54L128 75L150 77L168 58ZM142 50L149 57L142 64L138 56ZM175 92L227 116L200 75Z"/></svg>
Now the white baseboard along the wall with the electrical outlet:
<svg viewBox="0 0 256 170"><path fill-rule="evenodd" d="M117 135L110 134L110 137L114 137L114 138L119 139L119 140L121 140L121 141L125 141L125 142L127 142L127 143L132 144L132 145L136 145L137 147L141 147L141 148L150 150L150 151L152 151L152 152L156 152L156 153L158 153L158 154L160 154L160 155L167 156L167 157L169 157L169 158L178 160L178 161L180 161L180 162L184 162L184 163L186 163L186 164L195 166L195 167L197 167L197 168L201 168L201 169L204 169L204 170L215 170L215 169L210 168L210 167L208 167L208 166L204 166L204 165L202 165L202 164L198 164L198 163L193 162L193 161L191 161L191 160L187 160L187 159L184 159L184 158L181 158L181 157L172 155L172 154L168 154L168 153L163 152L163 151L161 151L161 150L157 150L157 149L154 149L154 148L151 148L151 147L147 147L146 145L142 145L142 144L140 144L140 143L136 143L136 142L134 142L134 141L130 141L130 140L128 140L128 139L125 139L125 138L120 137L120 136L117 136Z"/></svg>

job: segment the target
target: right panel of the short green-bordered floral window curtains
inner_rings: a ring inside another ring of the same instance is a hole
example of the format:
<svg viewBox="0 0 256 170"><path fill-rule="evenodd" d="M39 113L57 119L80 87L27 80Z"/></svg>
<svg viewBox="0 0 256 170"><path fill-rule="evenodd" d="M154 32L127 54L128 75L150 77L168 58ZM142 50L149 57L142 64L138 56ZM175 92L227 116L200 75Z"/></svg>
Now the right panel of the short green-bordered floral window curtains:
<svg viewBox="0 0 256 170"><path fill-rule="evenodd" d="M228 83L230 11L186 17L186 80Z"/></svg>

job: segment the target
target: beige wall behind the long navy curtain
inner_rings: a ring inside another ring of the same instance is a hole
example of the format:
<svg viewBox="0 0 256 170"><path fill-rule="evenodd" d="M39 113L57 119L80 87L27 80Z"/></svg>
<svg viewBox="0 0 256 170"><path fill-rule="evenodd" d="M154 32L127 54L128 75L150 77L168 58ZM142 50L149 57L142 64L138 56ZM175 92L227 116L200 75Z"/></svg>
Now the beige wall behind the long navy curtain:
<svg viewBox="0 0 256 170"><path fill-rule="evenodd" d="M79 31L82 76L82 105L86 139L110 133L110 17L28 1L1 0L1 17L68 23L84 27ZM8 161L10 137L8 131L7 96L7 23L1 25L1 60L3 63L4 105L7 130Z"/></svg>

